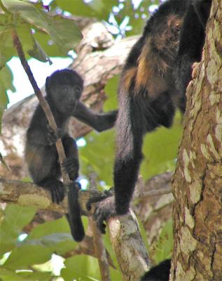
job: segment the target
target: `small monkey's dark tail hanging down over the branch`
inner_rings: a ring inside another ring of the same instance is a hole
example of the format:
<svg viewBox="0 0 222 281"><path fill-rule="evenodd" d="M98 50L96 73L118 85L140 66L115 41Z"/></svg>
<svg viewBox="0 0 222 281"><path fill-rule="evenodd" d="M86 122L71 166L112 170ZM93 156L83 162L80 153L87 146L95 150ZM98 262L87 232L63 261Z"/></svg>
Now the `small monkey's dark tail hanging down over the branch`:
<svg viewBox="0 0 222 281"><path fill-rule="evenodd" d="M80 186L78 183L72 183L68 189L68 214L67 220L74 240L81 242L85 236L83 222L81 220L81 209L78 204L78 191Z"/></svg>

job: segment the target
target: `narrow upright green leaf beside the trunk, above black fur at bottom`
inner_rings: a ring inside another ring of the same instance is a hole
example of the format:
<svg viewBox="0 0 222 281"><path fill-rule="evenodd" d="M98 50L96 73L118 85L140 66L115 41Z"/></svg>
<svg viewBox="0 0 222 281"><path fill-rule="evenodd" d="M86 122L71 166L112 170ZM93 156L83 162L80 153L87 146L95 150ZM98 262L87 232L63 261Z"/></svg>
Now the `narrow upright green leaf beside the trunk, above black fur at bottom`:
<svg viewBox="0 0 222 281"><path fill-rule="evenodd" d="M172 256L173 249L173 226L172 226L172 218L165 223L162 231L160 233L159 239L156 243L156 251L155 251L155 263L158 264L160 261L165 259L169 259Z"/></svg>

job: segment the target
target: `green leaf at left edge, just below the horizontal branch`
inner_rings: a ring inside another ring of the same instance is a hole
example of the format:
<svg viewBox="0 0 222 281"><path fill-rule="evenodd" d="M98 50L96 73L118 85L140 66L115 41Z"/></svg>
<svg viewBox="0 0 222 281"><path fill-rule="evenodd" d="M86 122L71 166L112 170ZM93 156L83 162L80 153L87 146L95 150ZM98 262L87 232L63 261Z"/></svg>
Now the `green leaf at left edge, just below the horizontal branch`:
<svg viewBox="0 0 222 281"><path fill-rule="evenodd" d="M16 204L8 204L4 211L4 221L0 228L0 254L11 251L15 247L18 235L22 228L32 221L36 207L21 207Z"/></svg>

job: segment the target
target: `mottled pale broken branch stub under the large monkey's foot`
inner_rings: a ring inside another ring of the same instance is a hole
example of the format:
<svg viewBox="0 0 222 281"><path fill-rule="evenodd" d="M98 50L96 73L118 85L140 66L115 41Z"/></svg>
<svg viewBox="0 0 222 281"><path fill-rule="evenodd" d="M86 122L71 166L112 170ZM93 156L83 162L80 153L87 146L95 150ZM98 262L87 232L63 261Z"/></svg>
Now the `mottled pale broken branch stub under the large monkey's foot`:
<svg viewBox="0 0 222 281"><path fill-rule="evenodd" d="M124 216L109 218L108 228L123 280L139 280L151 264L139 233L136 216L130 210Z"/></svg>

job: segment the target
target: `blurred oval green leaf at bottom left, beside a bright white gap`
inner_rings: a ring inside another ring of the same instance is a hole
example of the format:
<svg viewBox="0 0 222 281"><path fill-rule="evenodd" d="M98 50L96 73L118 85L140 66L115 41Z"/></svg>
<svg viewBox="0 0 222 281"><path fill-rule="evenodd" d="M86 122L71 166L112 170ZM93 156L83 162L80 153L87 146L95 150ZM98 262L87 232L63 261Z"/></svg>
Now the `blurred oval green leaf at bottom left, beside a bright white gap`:
<svg viewBox="0 0 222 281"><path fill-rule="evenodd" d="M34 264L46 263L52 256L52 251L41 244L23 244L16 247L4 263L10 269L29 269Z"/></svg>

